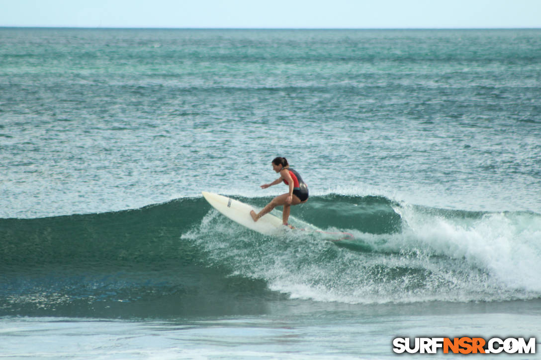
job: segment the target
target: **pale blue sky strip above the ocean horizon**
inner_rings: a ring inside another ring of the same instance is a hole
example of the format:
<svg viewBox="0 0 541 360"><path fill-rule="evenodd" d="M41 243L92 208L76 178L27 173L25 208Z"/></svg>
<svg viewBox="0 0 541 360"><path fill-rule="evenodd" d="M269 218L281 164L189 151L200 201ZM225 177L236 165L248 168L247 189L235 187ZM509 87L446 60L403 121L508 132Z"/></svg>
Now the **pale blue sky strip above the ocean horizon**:
<svg viewBox="0 0 541 360"><path fill-rule="evenodd" d="M541 28L541 0L0 0L0 26Z"/></svg>

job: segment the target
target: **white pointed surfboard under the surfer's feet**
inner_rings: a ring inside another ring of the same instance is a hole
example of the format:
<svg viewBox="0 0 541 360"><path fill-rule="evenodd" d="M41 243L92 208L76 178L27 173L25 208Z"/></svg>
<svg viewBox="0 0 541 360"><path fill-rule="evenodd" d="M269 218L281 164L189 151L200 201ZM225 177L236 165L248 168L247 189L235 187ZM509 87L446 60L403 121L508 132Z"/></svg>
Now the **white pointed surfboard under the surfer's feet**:
<svg viewBox="0 0 541 360"><path fill-rule="evenodd" d="M250 211L259 212L259 210L253 208L253 206L212 192L203 191L202 194L214 209L248 229L260 232L263 235L279 235L287 230L287 226L282 225L282 219L271 214L266 214L255 222L250 216Z"/></svg>

